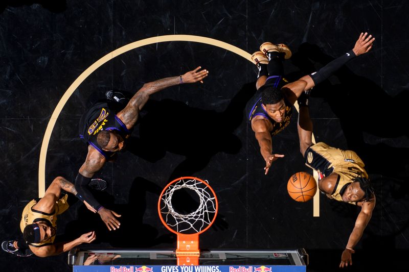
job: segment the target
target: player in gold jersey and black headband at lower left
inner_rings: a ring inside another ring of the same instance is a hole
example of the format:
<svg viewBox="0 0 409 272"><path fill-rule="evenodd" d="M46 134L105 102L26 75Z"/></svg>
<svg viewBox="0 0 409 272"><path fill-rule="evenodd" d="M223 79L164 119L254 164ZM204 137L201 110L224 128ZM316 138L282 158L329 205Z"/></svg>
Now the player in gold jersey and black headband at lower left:
<svg viewBox="0 0 409 272"><path fill-rule="evenodd" d="M33 253L38 257L48 257L67 252L79 244L90 243L96 239L95 232L92 231L82 234L73 241L54 243L57 215L69 208L68 195L60 197L61 190L77 194L74 184L62 177L55 178L44 196L39 200L30 201L22 212L20 229L24 241L4 241L2 243L4 251L21 257L27 257Z"/></svg>

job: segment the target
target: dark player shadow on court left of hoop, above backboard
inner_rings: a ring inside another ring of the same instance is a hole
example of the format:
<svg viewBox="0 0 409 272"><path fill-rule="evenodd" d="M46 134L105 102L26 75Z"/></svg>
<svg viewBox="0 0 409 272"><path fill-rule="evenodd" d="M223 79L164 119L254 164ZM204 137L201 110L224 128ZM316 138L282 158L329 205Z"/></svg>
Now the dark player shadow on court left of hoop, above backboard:
<svg viewBox="0 0 409 272"><path fill-rule="evenodd" d="M97 240L92 244L82 244L82 248L149 248L160 243L172 243L174 235L158 235L157 228L143 222L147 192L160 193L160 187L136 178L129 190L127 204L115 204L115 197L109 192L93 191L104 207L121 214L120 228L109 231L98 214L91 213L82 205L77 210L78 219L66 225L65 235L75 237L87 231L95 231Z"/></svg>

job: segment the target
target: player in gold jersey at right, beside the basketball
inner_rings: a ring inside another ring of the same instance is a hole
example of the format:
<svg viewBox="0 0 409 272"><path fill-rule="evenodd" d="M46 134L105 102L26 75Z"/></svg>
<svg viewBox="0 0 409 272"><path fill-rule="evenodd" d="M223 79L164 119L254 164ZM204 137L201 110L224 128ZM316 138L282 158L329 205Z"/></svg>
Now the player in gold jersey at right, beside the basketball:
<svg viewBox="0 0 409 272"><path fill-rule="evenodd" d="M361 208L342 253L339 267L352 265L351 254L355 252L354 247L362 237L375 208L375 194L368 174L363 168L365 164L353 151L340 150L324 142L312 143L312 121L308 106L300 107L298 134L300 152L305 164L323 177L318 181L320 191L330 199Z"/></svg>

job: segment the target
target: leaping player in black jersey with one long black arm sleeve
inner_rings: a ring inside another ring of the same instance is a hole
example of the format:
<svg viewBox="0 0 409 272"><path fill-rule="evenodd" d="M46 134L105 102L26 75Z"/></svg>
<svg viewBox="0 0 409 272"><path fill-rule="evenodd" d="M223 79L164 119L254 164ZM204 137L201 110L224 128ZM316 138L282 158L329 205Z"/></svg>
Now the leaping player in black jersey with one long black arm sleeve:
<svg viewBox="0 0 409 272"><path fill-rule="evenodd" d="M319 71L291 83L283 78L282 62L291 57L287 45L275 45L270 42L261 44L261 51L255 52L252 56L259 68L257 92L247 104L246 110L265 161L265 175L272 162L284 157L283 154L273 152L272 136L288 126L292 105L297 100L299 105L308 103L307 98L312 87L329 78L349 60L367 53L372 48L374 40L372 35L361 33L351 51L328 63Z"/></svg>

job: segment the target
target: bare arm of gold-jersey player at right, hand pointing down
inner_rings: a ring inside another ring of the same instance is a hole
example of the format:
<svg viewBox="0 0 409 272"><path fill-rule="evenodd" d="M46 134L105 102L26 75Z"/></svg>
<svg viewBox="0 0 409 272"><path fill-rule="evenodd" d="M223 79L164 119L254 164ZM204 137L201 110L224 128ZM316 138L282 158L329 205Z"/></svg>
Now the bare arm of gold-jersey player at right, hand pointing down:
<svg viewBox="0 0 409 272"><path fill-rule="evenodd" d="M365 228L367 227L374 208L375 196L373 200L362 203L361 211L359 212L358 217L356 218L354 229L352 230L352 233L348 239L347 246L342 253L341 263L339 264L339 267L345 267L348 266L348 264L352 265L351 255L352 253L355 253L354 247L362 237L363 230L365 230Z"/></svg>

